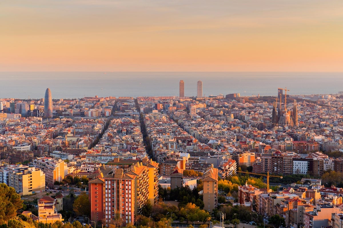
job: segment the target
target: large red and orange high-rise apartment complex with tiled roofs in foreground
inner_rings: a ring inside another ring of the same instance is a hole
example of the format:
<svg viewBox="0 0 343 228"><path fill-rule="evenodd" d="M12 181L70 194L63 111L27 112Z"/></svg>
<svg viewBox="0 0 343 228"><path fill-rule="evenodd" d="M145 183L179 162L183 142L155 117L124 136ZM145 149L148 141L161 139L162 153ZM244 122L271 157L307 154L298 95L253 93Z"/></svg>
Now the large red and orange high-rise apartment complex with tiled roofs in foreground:
<svg viewBox="0 0 343 228"><path fill-rule="evenodd" d="M119 160L100 166L88 176L91 219L105 224L119 216L133 224L149 201L158 201L158 163L151 159Z"/></svg>

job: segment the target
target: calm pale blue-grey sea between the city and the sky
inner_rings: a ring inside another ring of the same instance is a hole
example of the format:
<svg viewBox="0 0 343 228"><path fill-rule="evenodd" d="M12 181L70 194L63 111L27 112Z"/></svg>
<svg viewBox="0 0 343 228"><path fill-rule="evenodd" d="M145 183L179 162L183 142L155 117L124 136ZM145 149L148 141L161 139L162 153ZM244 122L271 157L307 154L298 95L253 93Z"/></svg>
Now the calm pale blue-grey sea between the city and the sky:
<svg viewBox="0 0 343 228"><path fill-rule="evenodd" d="M39 99L50 88L52 98L85 96L185 96L240 93L276 96L277 88L290 95L337 94L343 91L343 72L0 72L0 98Z"/></svg>

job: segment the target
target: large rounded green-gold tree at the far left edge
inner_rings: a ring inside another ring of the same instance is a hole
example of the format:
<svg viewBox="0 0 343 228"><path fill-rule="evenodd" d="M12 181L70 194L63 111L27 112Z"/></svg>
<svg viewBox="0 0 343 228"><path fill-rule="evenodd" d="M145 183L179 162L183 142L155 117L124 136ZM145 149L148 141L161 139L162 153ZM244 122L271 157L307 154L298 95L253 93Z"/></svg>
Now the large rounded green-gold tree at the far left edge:
<svg viewBox="0 0 343 228"><path fill-rule="evenodd" d="M17 210L23 207L23 200L15 189L6 184L0 184L0 223L6 223L17 215Z"/></svg>

